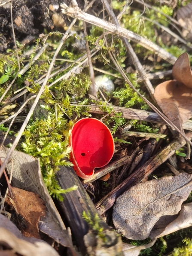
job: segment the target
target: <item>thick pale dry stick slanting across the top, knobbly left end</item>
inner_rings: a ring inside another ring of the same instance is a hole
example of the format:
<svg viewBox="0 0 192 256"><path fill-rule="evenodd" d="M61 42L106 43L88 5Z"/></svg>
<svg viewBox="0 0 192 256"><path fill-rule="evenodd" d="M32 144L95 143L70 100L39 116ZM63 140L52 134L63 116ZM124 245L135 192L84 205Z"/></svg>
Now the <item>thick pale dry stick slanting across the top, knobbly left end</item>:
<svg viewBox="0 0 192 256"><path fill-rule="evenodd" d="M116 34L120 37L125 37L128 40L132 40L135 43L140 44L144 48L154 52L161 58L165 59L165 61L168 61L171 64L174 64L175 61L177 60L176 57L156 45L155 43L152 43L150 40L145 39L144 37L141 37L134 32L127 30L123 27L116 26L110 22L104 21L100 18L94 17L93 15L87 14L85 12L82 12L79 7L68 7L65 4L61 4L62 12L68 16L77 18L82 21L86 21L90 24L96 25L98 27L101 27L105 30L108 30L109 32Z"/></svg>

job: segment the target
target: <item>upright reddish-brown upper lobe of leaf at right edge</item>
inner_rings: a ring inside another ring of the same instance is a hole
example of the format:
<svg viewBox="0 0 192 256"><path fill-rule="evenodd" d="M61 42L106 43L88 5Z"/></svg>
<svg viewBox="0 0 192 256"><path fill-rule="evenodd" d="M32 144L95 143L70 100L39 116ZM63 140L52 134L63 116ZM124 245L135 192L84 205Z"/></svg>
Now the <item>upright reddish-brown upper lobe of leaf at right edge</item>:
<svg viewBox="0 0 192 256"><path fill-rule="evenodd" d="M179 56L172 69L172 75L178 82L192 88L192 72L189 63L189 56L185 52Z"/></svg>

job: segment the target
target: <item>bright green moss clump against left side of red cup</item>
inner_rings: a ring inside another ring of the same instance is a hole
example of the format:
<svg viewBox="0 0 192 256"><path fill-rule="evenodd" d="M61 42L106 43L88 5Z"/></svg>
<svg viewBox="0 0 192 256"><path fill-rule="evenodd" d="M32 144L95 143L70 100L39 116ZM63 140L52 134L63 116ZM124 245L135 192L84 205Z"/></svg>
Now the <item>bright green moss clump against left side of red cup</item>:
<svg viewBox="0 0 192 256"><path fill-rule="evenodd" d="M49 110L48 118L36 119L27 126L23 134L25 141L22 143L22 150L39 158L50 194L62 200L61 193L65 190L58 186L55 172L58 171L59 165L72 166L66 158L70 155L68 140L73 122L64 119L61 111L58 111L56 116L49 107L45 108Z"/></svg>

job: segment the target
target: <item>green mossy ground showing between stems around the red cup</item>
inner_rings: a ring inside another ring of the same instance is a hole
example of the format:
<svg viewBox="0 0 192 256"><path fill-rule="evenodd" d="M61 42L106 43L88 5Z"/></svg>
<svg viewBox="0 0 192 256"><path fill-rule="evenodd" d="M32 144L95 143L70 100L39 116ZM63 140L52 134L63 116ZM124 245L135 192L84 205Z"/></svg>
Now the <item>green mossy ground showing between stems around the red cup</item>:
<svg viewBox="0 0 192 256"><path fill-rule="evenodd" d="M112 6L115 12L121 12L125 2L126 1L112 1ZM175 11L167 5L160 5L159 3L151 1L149 3L152 5L155 4L155 9L165 13L166 15L173 17L175 14ZM178 1L175 8L177 9L180 6L181 2ZM159 25L154 24L153 20L157 21ZM81 25L82 24L79 22L79 27ZM122 27L148 38L154 43L158 43L159 46L166 49L176 57L180 56L183 52L186 52L186 46L183 46L180 43L176 43L175 45L163 43L161 25L171 28L171 24L168 18L158 11L146 9L143 13L143 10L140 8L137 9L135 6L129 6L122 15L121 25ZM98 40L103 32L104 30L101 28L95 26L89 27L89 34L85 40L89 42L89 47L91 50L95 49L95 46L100 47L98 53L92 58L94 67L97 67L97 70L99 70L95 71L95 75L101 74L104 71L105 73L108 73L109 78L112 79L116 84L116 89L113 92L110 103L116 106L150 110L148 105L129 87L128 84L124 82L123 79L117 78L120 77L120 75L113 63L110 61L107 52L108 50L113 51L121 67L125 69L128 67L134 68L127 56L122 40L119 37L109 34L107 40L110 48L107 48L104 45L104 40L102 38ZM71 70L76 63L76 60L85 53L79 51L78 48L71 47L73 43L80 39L78 33L79 31L70 36L64 43L64 46L59 52L58 59L55 62L55 67L53 70L56 71L59 68L63 68L63 71L50 78L48 81L49 84ZM12 79L17 76L13 86L9 89L3 101L0 103L3 110L1 111L3 119L6 119L8 116L11 116L14 112L16 112L18 107L25 101L25 98L22 96L13 103L7 104L9 99L15 96L15 91L22 91L24 89L23 87L25 86L28 91L25 95L30 93L32 95L36 95L38 93L41 86L39 83L40 77L47 73L50 61L53 58L55 49L57 49L61 37L62 34L59 32L48 33L45 30L44 36L37 38L36 43L33 45L23 47L17 42L21 69L26 63L30 64L30 68L22 76L18 75L19 70L15 50L8 49L6 53L0 55L0 97L3 95L10 82L12 82ZM36 55L37 49L39 49L39 47L43 47L45 43L48 43L49 47L45 49L38 61L32 63L32 59ZM149 50L144 49L136 43L132 43L132 46L141 63L146 67L146 69L149 69L150 72L153 73L156 71L165 71L167 69L171 69L170 64L163 60L157 61L157 58L154 57L152 52ZM32 50L32 53L26 57L27 55L25 53L30 50ZM191 52L189 52L189 58L192 60L192 55L190 55L190 53ZM149 94L146 91L146 88L143 86L143 83L139 83L137 81L137 73L129 73L128 76L135 88L137 88L141 94L150 100ZM154 85L156 85L156 83L157 82L154 81ZM71 165L68 160L70 155L68 139L70 136L70 128L76 119L88 116L94 116L99 119L102 118L103 122L109 126L110 130L114 134L114 137L119 135L119 128L125 124L131 125L132 129L136 131L152 133L158 131L158 126L137 120L126 120L122 118L121 113L115 113L115 116L110 116L110 114L113 112L113 107L109 106L107 102L104 102L100 96L94 100L88 97L87 91L90 84L91 80L89 76L89 69L86 66L82 69L81 73L75 74L74 76L72 75L67 80L61 80L50 88L47 86L42 94L38 109L34 111L34 117L30 119L30 122L24 131L23 141L18 145L19 150L40 159L40 165L46 186L48 187L52 196L56 196L60 199L62 198L61 193L64 191L58 186L55 180L55 172L58 170L59 165ZM6 107L4 107L5 104ZM106 111L107 115L91 115L91 113L88 112L89 108L85 107L85 105L88 106L90 104L101 105L101 110ZM27 112L28 109L26 107L25 111L19 114L19 116L26 116ZM43 113L43 115L40 115L40 112ZM37 115L35 116L35 114ZM17 123L15 123L15 125L19 126ZM5 123L5 126L0 126L0 130L5 131L6 127L7 125ZM15 132L16 135L17 130L14 131L14 126L11 128L11 130ZM117 141L120 143L120 146L117 146L117 149L118 147L126 148L127 144L125 144L125 142L129 142L121 140L120 137L118 137ZM134 141L135 139L130 138L130 142L134 143ZM128 147L130 147L130 145L128 145ZM102 186L105 187L107 192L110 191L110 182L102 182ZM102 197L103 194L100 196ZM178 236L181 236L180 241L185 239L183 235L180 235L181 233L182 232L178 232ZM186 233L186 236L190 236L190 234L191 229L189 229L189 233ZM166 252L169 241L171 241L171 238L168 240L166 239L166 242L163 239L159 239L152 248L144 250L140 255L154 255L154 253L159 256L165 255L164 253ZM190 240L186 239L185 242L187 244L187 248L191 247ZM135 242L135 244L140 244L140 241ZM181 246L181 244L179 244L179 246ZM178 250L175 249L170 255L191 255L182 254L188 249L178 248ZM177 252L180 252L181 254L177 254Z"/></svg>

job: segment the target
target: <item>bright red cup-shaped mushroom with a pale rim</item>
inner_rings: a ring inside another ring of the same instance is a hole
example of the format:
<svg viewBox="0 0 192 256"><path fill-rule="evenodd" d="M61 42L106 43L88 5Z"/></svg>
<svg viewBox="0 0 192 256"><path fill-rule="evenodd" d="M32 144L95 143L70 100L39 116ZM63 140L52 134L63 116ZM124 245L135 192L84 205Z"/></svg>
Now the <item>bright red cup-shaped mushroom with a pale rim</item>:
<svg viewBox="0 0 192 256"><path fill-rule="evenodd" d="M95 118L83 118L73 125L70 146L70 161L83 179L91 177L95 168L107 165L115 149L110 129Z"/></svg>

